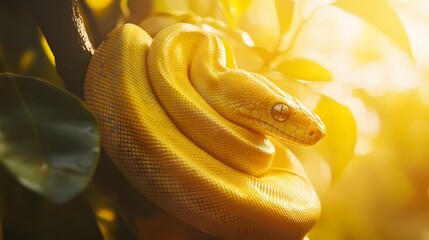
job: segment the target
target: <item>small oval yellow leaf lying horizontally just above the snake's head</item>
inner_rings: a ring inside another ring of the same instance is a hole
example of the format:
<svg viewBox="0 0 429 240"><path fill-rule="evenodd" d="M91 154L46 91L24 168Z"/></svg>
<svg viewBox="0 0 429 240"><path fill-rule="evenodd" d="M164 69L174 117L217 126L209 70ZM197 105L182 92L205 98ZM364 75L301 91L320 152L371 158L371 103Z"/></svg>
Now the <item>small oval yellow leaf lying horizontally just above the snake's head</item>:
<svg viewBox="0 0 429 240"><path fill-rule="evenodd" d="M331 73L320 64L308 59L287 59L277 66L277 70L296 79L308 81L331 81Z"/></svg>

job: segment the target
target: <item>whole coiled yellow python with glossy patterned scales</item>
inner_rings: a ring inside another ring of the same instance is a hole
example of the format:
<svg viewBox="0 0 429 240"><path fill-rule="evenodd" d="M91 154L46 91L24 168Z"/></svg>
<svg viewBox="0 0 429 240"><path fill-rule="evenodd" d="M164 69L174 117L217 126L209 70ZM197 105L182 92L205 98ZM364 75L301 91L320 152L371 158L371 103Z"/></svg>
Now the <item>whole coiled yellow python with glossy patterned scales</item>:
<svg viewBox="0 0 429 240"><path fill-rule="evenodd" d="M304 239L318 219L310 181L277 139L311 145L324 125L237 69L216 36L184 23L153 40L118 27L91 59L85 101L129 182L191 226L222 239Z"/></svg>

